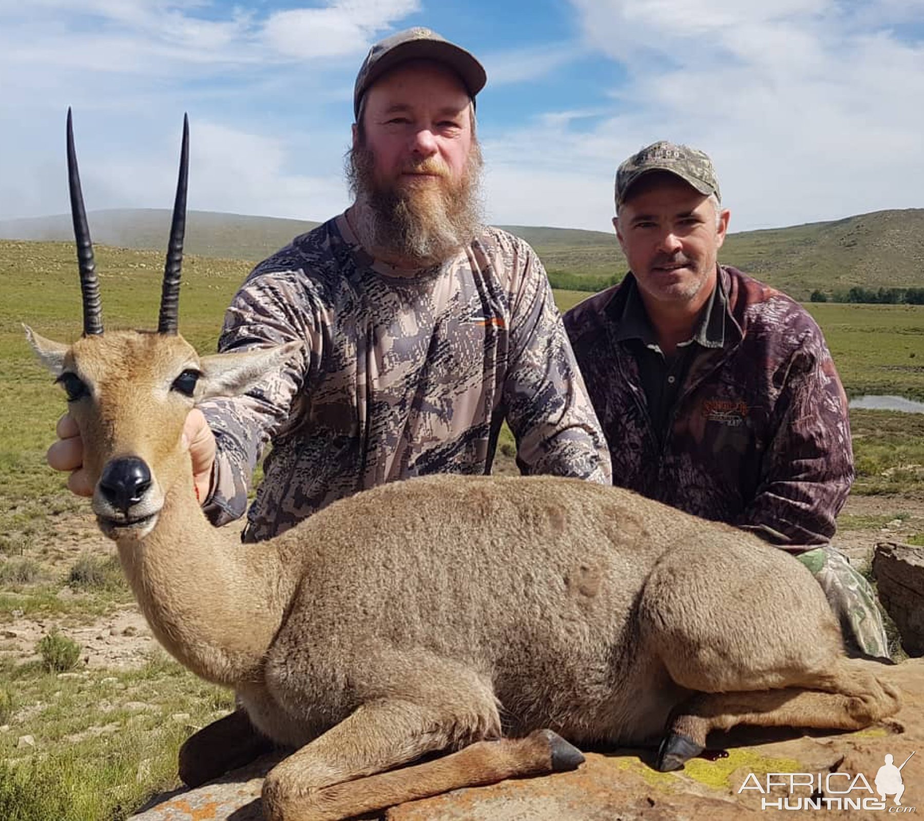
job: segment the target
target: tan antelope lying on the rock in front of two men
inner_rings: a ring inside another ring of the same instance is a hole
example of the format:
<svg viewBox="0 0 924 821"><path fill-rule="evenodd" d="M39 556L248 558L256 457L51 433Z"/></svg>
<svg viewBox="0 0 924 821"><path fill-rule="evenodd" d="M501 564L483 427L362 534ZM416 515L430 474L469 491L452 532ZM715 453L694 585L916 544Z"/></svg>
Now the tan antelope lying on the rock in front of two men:
<svg viewBox="0 0 924 821"><path fill-rule="evenodd" d="M272 742L296 752L265 780L266 815L342 818L577 767L570 743L661 743L666 770L710 730L858 729L897 709L886 667L845 658L802 564L624 489L415 478L241 545L201 513L183 422L298 344L200 357L167 285L159 332L103 332L83 279L84 336L30 342L71 397L93 510L153 633L241 706L188 740L189 784Z"/></svg>

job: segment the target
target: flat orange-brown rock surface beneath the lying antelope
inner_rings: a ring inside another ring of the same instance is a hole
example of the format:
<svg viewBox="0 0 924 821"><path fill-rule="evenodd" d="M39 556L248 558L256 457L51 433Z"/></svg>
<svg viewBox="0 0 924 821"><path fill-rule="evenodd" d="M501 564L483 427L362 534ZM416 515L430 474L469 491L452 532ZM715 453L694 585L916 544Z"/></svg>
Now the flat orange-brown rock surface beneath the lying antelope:
<svg viewBox="0 0 924 821"><path fill-rule="evenodd" d="M711 739L722 746L727 757L715 761L695 759L682 771L659 773L651 769L653 751L618 750L590 753L575 772L541 779L509 780L491 787L457 790L424 801L388 810L384 821L723 821L723 819L768 818L783 815L763 809L762 799L772 802L787 794L774 787L764 795L757 789L741 791L747 784L766 785L766 774L777 772L844 773L835 783L840 789L862 774L873 786L876 772L886 754L896 766L917 752L902 771L906 792L903 809L919 807L924 813L924 659L908 661L888 669L887 677L904 695L902 709L894 717L859 732L841 734L779 733L737 730ZM197 790L176 791L159 796L134 821L258 821L261 819L261 779L273 766L263 758L213 784ZM748 778L754 774L754 778ZM857 782L859 783L859 782ZM831 793L833 795L833 792ZM796 789L791 800L808 798L808 789ZM849 793L855 798L878 800L862 789ZM889 806L893 807L889 798ZM895 810L899 809L894 807ZM796 815L804 815L803 810ZM821 809L815 815L826 819L877 818L892 815L884 810ZM793 817L786 812L785 817ZM374 816L367 816L374 817Z"/></svg>

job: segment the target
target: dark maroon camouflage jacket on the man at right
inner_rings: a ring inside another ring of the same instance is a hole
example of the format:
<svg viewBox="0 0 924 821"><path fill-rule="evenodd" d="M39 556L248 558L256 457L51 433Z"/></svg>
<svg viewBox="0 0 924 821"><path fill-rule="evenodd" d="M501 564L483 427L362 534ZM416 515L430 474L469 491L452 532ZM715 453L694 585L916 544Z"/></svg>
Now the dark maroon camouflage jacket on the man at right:
<svg viewBox="0 0 924 821"><path fill-rule="evenodd" d="M723 344L693 359L659 441L638 362L617 343L633 277L565 314L614 484L800 552L827 543L854 477L844 388L793 299L726 266Z"/></svg>

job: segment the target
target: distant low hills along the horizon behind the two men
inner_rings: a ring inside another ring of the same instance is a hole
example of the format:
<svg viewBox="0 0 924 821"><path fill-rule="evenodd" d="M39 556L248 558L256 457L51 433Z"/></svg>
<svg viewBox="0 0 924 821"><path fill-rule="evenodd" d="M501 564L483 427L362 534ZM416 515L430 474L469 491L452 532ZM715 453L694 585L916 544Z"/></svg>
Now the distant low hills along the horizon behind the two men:
<svg viewBox="0 0 924 821"><path fill-rule="evenodd" d="M166 247L169 212L93 211L93 241L122 248ZM318 223L190 211L189 254L261 260ZM522 236L550 272L612 276L626 272L613 234L527 225L503 226ZM64 240L73 236L67 215L0 222L0 238ZM828 223L808 223L731 234L720 260L736 265L798 299L814 289L831 292L924 286L924 209L874 211Z"/></svg>

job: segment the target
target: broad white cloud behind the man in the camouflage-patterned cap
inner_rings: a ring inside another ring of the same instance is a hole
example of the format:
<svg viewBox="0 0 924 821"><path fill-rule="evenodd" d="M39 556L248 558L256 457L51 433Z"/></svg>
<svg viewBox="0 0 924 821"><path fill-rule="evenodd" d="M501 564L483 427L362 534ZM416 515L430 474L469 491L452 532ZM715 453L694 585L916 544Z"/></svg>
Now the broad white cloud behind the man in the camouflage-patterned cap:
<svg viewBox="0 0 924 821"><path fill-rule="evenodd" d="M495 179L523 193L524 211L544 202L543 222L605 223L616 165L656 139L711 154L734 230L921 206L924 49L883 25L902 6L867 3L859 16L823 0L572 5L588 44L628 72L610 111L595 122L545 112L486 141ZM880 27L858 26L875 8ZM504 186L491 196L509 220Z"/></svg>

